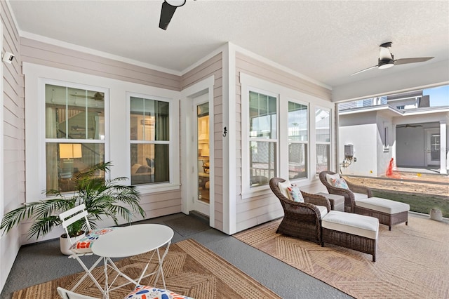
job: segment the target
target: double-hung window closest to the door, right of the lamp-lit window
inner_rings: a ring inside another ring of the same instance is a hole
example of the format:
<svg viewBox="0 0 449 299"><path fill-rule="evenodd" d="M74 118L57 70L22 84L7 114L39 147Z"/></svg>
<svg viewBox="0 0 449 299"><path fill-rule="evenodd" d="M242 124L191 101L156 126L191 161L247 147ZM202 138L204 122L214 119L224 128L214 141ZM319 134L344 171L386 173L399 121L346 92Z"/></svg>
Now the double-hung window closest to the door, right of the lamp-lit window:
<svg viewBox="0 0 449 299"><path fill-rule="evenodd" d="M170 181L170 103L130 96L131 184Z"/></svg>

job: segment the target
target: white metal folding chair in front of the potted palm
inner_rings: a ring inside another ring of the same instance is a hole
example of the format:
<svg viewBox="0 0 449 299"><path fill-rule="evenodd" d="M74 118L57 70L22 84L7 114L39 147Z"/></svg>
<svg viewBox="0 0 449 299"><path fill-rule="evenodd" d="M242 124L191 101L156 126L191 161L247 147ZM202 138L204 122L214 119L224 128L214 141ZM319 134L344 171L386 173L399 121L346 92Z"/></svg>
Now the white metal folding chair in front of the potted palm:
<svg viewBox="0 0 449 299"><path fill-rule="evenodd" d="M79 206L71 208L69 211L60 213L59 218L62 221L62 227L64 227L64 230L65 230L65 233L67 234L67 236L69 236L67 227L82 218L84 218L86 220L86 225L88 228L88 232L86 232L86 234L92 231L92 228L91 228L91 225L89 224L87 215L88 215L88 211L86 211L86 205L84 205L84 204L80 204ZM72 244L72 240L70 238L69 238L69 240L70 240L70 243ZM79 252L79 251L76 252L76 251L72 250L72 254L69 255L69 258L73 258L73 259L77 260L79 262L79 264L81 265L81 267L83 267L83 270L86 271L86 273L83 275L83 277L81 277L81 279L79 279L79 281L75 284L75 286L70 291L74 291L74 289L76 289L81 284L81 282L84 279L86 279L86 277L91 277L95 286L97 286L100 289L100 291L102 293L104 293L102 286L98 283L97 279L95 279L95 277L93 277L93 274L92 274L92 270L95 267L97 267L97 265L102 261L103 258L98 257L98 260L95 263L93 263L93 265L90 268L88 268L86 266L86 264L83 263L83 261L81 260L81 257L83 257L84 255L93 255L93 252L90 248L86 248L82 252ZM72 297L70 297L70 298L72 298Z"/></svg>

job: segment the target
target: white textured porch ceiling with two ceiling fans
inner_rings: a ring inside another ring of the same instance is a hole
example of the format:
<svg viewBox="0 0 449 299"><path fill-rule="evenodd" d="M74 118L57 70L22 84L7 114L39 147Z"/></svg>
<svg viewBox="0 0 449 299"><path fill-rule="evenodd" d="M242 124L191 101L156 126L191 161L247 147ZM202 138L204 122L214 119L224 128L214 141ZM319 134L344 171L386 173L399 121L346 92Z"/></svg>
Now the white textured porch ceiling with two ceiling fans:
<svg viewBox="0 0 449 299"><path fill-rule="evenodd" d="M175 73L228 41L333 87L449 60L449 1L187 0L166 31L158 27L162 1L8 2L22 36ZM386 41L396 59L435 58L349 76L377 65Z"/></svg>

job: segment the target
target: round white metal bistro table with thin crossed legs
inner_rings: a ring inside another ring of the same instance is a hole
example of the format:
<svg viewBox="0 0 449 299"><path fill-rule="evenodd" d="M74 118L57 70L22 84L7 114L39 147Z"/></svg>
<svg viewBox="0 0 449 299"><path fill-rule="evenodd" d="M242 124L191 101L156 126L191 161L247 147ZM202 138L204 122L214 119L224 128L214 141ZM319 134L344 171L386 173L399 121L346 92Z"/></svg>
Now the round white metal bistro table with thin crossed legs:
<svg viewBox="0 0 449 299"><path fill-rule="evenodd" d="M168 253L168 248L171 244L171 239L173 238L173 230L166 225L159 224L142 224L142 225L130 225L126 227L121 227L120 230L114 230L100 237L92 246L92 251L95 255L102 256L105 263L105 291L103 293L105 298L109 298L109 291L116 288L121 288L126 284L140 284L140 280L144 277L149 277L156 274L156 279L154 281L154 286L156 286L159 276L162 277L163 288L166 288L166 281L163 277L162 263L163 259ZM159 248L166 245L163 252L159 252ZM133 255L139 255L142 253L153 252L148 260L145 269L140 274L140 277L136 281L128 277L119 270L118 267L112 261L112 258L126 258ZM156 257L154 257L156 255ZM157 258L158 266L154 272L146 274L149 263ZM115 270L116 277L109 283L107 270L111 267ZM128 279L128 283L122 284L120 286L115 286L111 288L112 284L116 279L121 276Z"/></svg>

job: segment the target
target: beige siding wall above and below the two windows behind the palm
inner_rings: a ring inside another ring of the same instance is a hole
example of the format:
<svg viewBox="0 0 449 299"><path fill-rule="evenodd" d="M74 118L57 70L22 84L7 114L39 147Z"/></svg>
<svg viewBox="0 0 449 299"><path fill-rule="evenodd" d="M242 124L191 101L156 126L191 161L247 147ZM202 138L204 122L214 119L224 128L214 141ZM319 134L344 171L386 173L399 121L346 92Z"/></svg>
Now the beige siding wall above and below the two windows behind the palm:
<svg viewBox="0 0 449 299"><path fill-rule="evenodd" d="M124 62L117 62L95 55L72 51L67 48L44 44L30 39L21 39L21 42L23 62L32 62L38 65L56 67L58 69L66 69L83 74L91 74L107 79L118 79L120 81L137 83L145 86L164 88L169 91L180 90L180 77L173 74L166 74L152 69L128 65ZM123 109L121 111L123 111ZM112 161L118 161L120 157L112 157L112 159ZM111 169L112 175L114 175L113 172L114 167ZM154 218L170 213L179 213L181 211L181 190L152 194L142 193L141 206L145 209L147 218ZM48 235L48 237L52 236Z"/></svg>

